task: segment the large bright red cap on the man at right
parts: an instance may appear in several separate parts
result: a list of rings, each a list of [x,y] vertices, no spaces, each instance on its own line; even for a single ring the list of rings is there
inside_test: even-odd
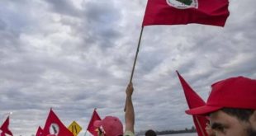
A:
[[[188,115],[208,115],[222,108],[256,110],[256,80],[230,77],[211,85],[205,106],[186,110]]]

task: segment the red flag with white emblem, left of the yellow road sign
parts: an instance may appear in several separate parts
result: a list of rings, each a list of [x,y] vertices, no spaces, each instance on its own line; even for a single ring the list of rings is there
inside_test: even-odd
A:
[[[73,134],[67,129],[64,124],[59,120],[55,112],[50,109],[50,113],[45,122],[45,128],[43,130],[43,135],[56,135],[56,136],[73,136]]]

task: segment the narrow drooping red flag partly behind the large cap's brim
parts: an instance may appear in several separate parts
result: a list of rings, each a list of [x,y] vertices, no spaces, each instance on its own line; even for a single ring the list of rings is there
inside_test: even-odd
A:
[[[183,86],[183,91],[185,93],[185,97],[186,97],[187,105],[189,109],[206,105],[206,102],[203,101],[201,97],[197,95],[197,92],[192,90],[192,87],[188,85],[188,83],[184,80],[184,78],[179,73],[178,73],[178,78]],[[196,115],[193,115],[192,117],[197,129],[198,136],[206,136],[207,135],[205,130],[206,123],[207,123],[206,117],[196,116]]]

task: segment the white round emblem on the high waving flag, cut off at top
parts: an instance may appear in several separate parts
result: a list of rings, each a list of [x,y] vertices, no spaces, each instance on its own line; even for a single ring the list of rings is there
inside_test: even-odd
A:
[[[178,9],[198,8],[197,0],[166,0],[169,6]]]

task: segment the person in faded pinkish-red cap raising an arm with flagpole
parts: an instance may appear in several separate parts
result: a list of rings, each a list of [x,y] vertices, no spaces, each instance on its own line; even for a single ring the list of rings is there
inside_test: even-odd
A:
[[[103,120],[94,121],[93,125],[98,128],[98,136],[134,136],[135,112],[131,101],[133,93],[132,83],[126,88],[126,131],[123,133],[121,120],[114,116],[106,116]]]

